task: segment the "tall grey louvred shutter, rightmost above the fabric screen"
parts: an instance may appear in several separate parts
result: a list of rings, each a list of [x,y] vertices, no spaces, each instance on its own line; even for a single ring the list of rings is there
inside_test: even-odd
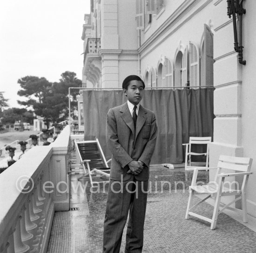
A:
[[[213,33],[204,24],[204,84],[213,86]]]

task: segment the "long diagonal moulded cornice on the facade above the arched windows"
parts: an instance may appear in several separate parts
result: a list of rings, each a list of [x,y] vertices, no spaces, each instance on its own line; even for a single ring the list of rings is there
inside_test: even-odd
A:
[[[175,24],[178,23],[184,16],[189,13],[189,11],[201,0],[188,0],[182,3],[181,6],[179,6],[176,11],[160,26],[159,29],[157,29],[138,49],[138,52],[141,54],[142,52],[145,52],[155,41],[163,36],[166,32],[168,32]],[[169,32],[162,40],[155,44],[149,52],[147,52],[145,55],[141,56],[141,58],[148,55],[148,53],[152,52],[158,45],[162,44],[164,40],[166,40],[169,36],[171,36],[175,31],[180,29],[185,23],[189,21],[189,19],[193,18],[196,13],[199,13],[205,6],[209,5],[210,2],[213,0],[205,0],[205,2],[198,7],[193,13],[189,15],[186,19],[184,19],[175,29],[173,29],[171,32]]]

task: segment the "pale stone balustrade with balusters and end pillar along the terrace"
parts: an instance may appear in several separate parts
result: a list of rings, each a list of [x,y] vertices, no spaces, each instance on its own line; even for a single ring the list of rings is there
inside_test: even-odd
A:
[[[0,174],[0,253],[45,253],[55,211],[69,210],[69,126]]]

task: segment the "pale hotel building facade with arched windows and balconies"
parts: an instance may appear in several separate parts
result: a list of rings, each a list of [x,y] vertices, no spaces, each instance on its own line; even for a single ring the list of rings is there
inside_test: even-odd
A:
[[[256,1],[243,7],[246,65],[234,50],[226,0],[92,0],[82,33],[82,82],[117,88],[138,74],[148,87],[214,85],[210,166],[221,154],[254,159],[247,204],[256,216]]]

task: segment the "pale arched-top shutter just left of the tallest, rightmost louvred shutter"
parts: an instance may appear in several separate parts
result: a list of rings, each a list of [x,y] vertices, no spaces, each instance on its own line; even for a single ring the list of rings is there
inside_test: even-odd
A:
[[[189,86],[199,86],[199,50],[189,42]]]

